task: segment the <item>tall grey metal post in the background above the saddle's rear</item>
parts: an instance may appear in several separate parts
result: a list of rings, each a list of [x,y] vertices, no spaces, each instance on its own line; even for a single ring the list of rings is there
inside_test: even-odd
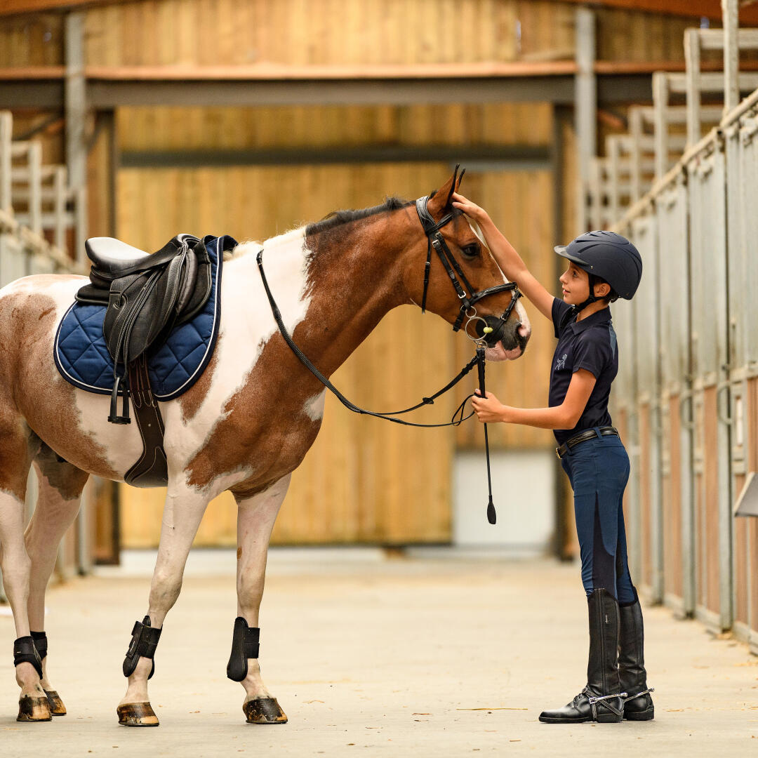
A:
[[[68,186],[74,193],[77,261],[84,262],[86,239],[87,152],[85,140],[86,80],[84,78],[84,13],[66,16],[66,163]]]

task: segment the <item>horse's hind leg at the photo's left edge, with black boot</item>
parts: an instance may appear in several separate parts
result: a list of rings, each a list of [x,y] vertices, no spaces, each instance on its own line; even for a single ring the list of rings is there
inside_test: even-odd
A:
[[[49,721],[50,707],[40,684],[42,662],[29,628],[27,603],[31,560],[23,541],[27,478],[38,440],[17,413],[0,406],[0,568],[16,625],[13,646],[21,688],[18,721]]]

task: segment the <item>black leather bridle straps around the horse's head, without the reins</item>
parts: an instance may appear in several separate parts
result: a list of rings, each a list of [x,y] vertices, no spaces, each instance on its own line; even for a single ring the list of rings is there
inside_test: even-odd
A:
[[[465,332],[470,337],[471,335],[468,334],[468,324],[475,319],[481,318],[481,316],[477,315],[476,309],[473,307],[475,302],[479,302],[482,298],[487,297],[488,295],[496,295],[500,292],[512,293],[511,302],[509,302],[503,315],[500,316],[500,321],[498,321],[494,327],[490,327],[489,325],[485,327],[486,331],[484,333],[484,340],[487,340],[489,334],[497,334],[498,330],[503,327],[503,324],[508,321],[511,311],[516,302],[518,302],[518,298],[521,297],[521,292],[518,290],[518,286],[515,282],[496,284],[495,287],[487,287],[486,290],[481,290],[481,292],[477,292],[474,287],[471,287],[471,284],[468,282],[468,279],[466,279],[466,275],[463,273],[463,269],[460,267],[459,262],[456,261],[455,256],[450,252],[450,249],[445,242],[445,238],[440,233],[440,229],[446,224],[449,224],[450,221],[453,221],[453,218],[456,216],[462,215],[462,211],[450,211],[449,214],[444,216],[440,221],[434,221],[434,218],[432,218],[427,207],[428,202],[428,195],[416,200],[418,219],[421,221],[421,226],[424,227],[424,233],[427,236],[427,260],[426,266],[424,267],[424,296],[421,298],[421,313],[426,311],[426,296],[427,290],[429,289],[429,269],[431,268],[431,249],[434,248],[437,251],[437,255],[440,256],[440,261],[442,261],[442,265],[445,267],[445,271],[447,271],[447,275],[450,277],[453,287],[456,289],[458,299],[461,301],[461,309],[458,313],[458,318],[456,318],[455,324],[453,324],[453,331],[458,331],[461,328],[463,319],[468,318]],[[460,277],[460,281],[458,277]],[[461,286],[461,282],[463,283],[463,286]],[[466,293],[466,290],[468,290],[468,294]],[[481,339],[475,341],[481,342]]]

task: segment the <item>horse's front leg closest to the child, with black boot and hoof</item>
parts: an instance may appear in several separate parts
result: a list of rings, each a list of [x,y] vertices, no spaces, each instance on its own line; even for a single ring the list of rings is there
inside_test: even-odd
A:
[[[237,500],[237,618],[227,676],[245,688],[243,713],[249,724],[284,724],[287,716],[269,693],[258,665],[258,611],[265,584],[268,540],[290,475],[268,490]]]

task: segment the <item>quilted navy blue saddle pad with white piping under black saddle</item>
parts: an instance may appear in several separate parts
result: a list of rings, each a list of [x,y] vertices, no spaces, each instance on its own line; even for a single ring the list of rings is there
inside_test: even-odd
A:
[[[173,400],[189,390],[208,365],[218,337],[221,316],[221,268],[224,250],[236,247],[230,236],[206,236],[211,258],[211,296],[198,315],[174,329],[148,356],[150,384],[155,398]],[[61,376],[80,390],[110,395],[113,359],[105,344],[102,323],[107,305],[74,302],[55,335],[55,365]]]

